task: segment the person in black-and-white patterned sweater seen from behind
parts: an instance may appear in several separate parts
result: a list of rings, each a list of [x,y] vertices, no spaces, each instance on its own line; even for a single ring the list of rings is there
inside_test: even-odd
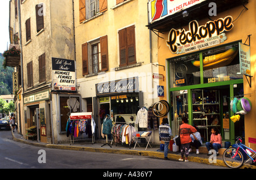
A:
[[[164,142],[164,159],[168,160],[168,146],[171,140],[172,130],[168,122],[168,118],[163,118],[162,124],[159,126],[159,137]]]

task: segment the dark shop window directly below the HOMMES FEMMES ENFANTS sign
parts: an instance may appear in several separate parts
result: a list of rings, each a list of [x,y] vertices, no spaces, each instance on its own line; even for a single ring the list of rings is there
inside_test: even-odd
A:
[[[60,96],[60,132],[65,132],[67,121],[71,113],[80,112],[80,97]]]

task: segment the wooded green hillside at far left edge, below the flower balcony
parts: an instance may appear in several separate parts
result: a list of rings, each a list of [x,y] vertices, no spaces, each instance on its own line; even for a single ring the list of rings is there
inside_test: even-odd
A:
[[[3,55],[0,53],[0,95],[10,95],[13,92],[13,71],[12,67],[3,68]]]

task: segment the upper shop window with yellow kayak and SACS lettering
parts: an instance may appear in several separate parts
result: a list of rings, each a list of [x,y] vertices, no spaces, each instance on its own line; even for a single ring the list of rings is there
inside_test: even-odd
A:
[[[238,44],[203,52],[204,83],[242,79]]]

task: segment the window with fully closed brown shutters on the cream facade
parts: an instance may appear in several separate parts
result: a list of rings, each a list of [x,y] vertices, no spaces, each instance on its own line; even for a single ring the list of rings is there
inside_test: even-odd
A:
[[[122,29],[119,35],[119,66],[128,66],[137,63],[135,48],[135,26]]]

